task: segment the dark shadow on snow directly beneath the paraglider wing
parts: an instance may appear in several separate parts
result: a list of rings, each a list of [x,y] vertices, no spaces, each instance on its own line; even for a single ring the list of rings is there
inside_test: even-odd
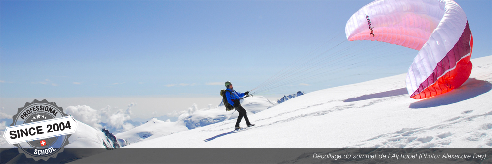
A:
[[[429,108],[441,105],[449,105],[456,102],[464,101],[470,98],[477,97],[484,93],[489,92],[492,89],[492,84],[488,81],[477,80],[475,78],[469,78],[460,87],[449,91],[445,94],[437,95],[435,97],[423,99],[414,103],[411,103],[409,108]]]

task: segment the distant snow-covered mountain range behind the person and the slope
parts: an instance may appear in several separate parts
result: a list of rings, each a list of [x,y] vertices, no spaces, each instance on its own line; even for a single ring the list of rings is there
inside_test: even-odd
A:
[[[302,91],[296,94],[286,95],[283,98],[277,100],[278,103],[285,102],[286,100],[304,95]],[[242,106],[246,109],[248,114],[254,114],[265,109],[275,106],[277,103],[268,100],[262,96],[253,96],[241,100]],[[169,135],[175,132],[186,131],[195,129],[197,127],[203,127],[210,124],[223,122],[230,119],[236,119],[238,112],[226,111],[223,104],[220,104],[216,108],[208,110],[198,110],[187,116],[183,116],[179,120],[169,119],[169,117],[152,118],[149,121],[126,120],[124,123],[130,123],[135,128],[124,131],[123,128],[114,128],[108,126],[104,122],[100,122],[102,129],[91,127],[83,122],[78,122],[76,133],[72,134],[69,138],[70,144],[67,148],[105,148],[108,150],[120,148],[130,145],[132,143],[141,142],[144,140]],[[164,121],[166,119],[169,121]],[[2,119],[2,121],[10,121],[9,119]],[[9,122],[9,124],[11,121]],[[3,133],[4,131],[2,131]],[[3,136],[2,136],[3,137]],[[2,148],[9,148],[15,146],[8,146],[8,143],[1,138]]]

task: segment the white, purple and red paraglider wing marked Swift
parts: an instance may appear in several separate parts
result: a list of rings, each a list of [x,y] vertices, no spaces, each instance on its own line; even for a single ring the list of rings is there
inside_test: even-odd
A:
[[[411,98],[430,98],[463,84],[471,73],[473,36],[452,0],[377,0],[345,26],[347,39],[376,40],[419,50],[408,69]]]

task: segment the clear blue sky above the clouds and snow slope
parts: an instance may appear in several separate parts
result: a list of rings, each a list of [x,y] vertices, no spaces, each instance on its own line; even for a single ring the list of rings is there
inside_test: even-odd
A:
[[[327,39],[346,39],[346,21],[369,2],[2,0],[0,96],[217,97],[225,81],[244,92]],[[491,55],[491,1],[457,3],[474,36],[472,58]],[[405,73],[417,54],[387,43],[346,44],[401,55],[264,94]]]

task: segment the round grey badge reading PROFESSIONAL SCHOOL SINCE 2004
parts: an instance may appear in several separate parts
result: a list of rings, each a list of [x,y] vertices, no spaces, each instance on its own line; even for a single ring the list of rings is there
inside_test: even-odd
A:
[[[26,102],[12,119],[12,124],[5,129],[5,138],[19,148],[19,153],[36,161],[46,161],[63,152],[77,125],[62,107],[46,99]]]

